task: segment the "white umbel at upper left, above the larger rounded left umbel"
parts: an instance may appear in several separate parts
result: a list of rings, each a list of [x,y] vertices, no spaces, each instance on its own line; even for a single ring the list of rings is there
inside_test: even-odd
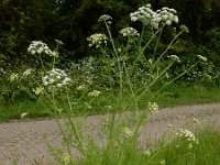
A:
[[[52,55],[52,51],[48,48],[47,44],[43,43],[42,41],[32,41],[28,52],[35,55],[35,54],[46,54],[46,55]]]

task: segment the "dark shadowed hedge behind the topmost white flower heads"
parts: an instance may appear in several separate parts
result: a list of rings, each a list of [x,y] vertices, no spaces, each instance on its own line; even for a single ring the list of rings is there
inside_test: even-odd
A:
[[[42,40],[54,45],[54,38],[65,43],[65,58],[76,59],[89,55],[87,36],[102,31],[97,22],[99,15],[113,16],[114,34],[128,25],[129,13],[141,4],[150,2],[154,9],[175,8],[180,16],[179,24],[186,24],[190,34],[185,36],[177,53],[208,53],[219,58],[219,0],[2,0],[0,2],[0,65],[7,62],[26,59],[26,47],[32,40]],[[166,37],[166,36],[165,36]],[[185,45],[185,47],[183,46]],[[197,47],[195,50],[195,47]]]

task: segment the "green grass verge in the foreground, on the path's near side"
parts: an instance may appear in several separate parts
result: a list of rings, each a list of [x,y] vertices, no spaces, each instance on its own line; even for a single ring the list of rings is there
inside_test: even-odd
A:
[[[195,131],[170,130],[170,139],[162,139],[154,146],[140,150],[135,142],[125,139],[108,154],[90,146],[85,158],[62,156],[62,165],[219,165],[220,132],[217,125],[197,128]],[[64,158],[65,157],[65,158]]]

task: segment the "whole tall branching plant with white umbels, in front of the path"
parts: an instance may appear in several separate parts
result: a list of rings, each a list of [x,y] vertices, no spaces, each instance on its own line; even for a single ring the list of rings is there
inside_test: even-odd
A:
[[[146,121],[147,114],[152,111],[156,111],[158,109],[158,106],[156,102],[148,102],[148,106],[146,106],[146,110],[140,111],[140,100],[143,98],[145,94],[147,94],[155,84],[163,78],[163,76],[168,72],[168,69],[173,66],[175,62],[180,62],[178,56],[170,55],[170,62],[167,63],[166,66],[161,65],[163,64],[162,59],[167,54],[167,51],[170,48],[170,46],[174,44],[176,38],[185,32],[182,30],[168,44],[168,46],[164,50],[164,52],[156,58],[156,52],[158,48],[161,35],[163,33],[165,25],[170,25],[173,22],[177,23],[178,18],[176,15],[176,11],[174,9],[163,8],[158,11],[153,11],[151,9],[150,4],[146,4],[145,7],[140,8],[136,12],[131,13],[131,21],[141,21],[143,24],[142,33],[141,35],[139,32],[133,28],[125,28],[121,30],[119,33],[122,34],[124,37],[127,37],[127,44],[122,47],[117,47],[114,40],[112,37],[111,31],[110,31],[110,23],[111,23],[111,16],[109,15],[102,15],[100,21],[105,22],[105,25],[107,28],[108,37],[105,34],[96,33],[92,34],[90,37],[88,37],[89,46],[96,46],[96,48],[99,48],[101,52],[103,58],[102,61],[111,59],[112,63],[109,63],[110,65],[110,74],[108,73],[105,75],[106,77],[110,76],[110,78],[107,79],[113,79],[117,82],[119,82],[119,88],[114,88],[113,84],[110,84],[111,91],[106,90],[109,95],[109,92],[112,92],[113,101],[119,105],[111,105],[112,100],[108,100],[110,103],[110,109],[108,109],[108,122],[107,122],[107,133],[105,134],[107,138],[107,144],[103,146],[103,148],[99,148],[98,144],[92,141],[85,142],[85,136],[82,134],[84,131],[80,125],[77,125],[77,121],[75,120],[75,109],[78,107],[74,107],[74,102],[72,102],[72,94],[69,94],[70,89],[68,88],[72,85],[74,78],[70,79],[68,77],[68,74],[65,73],[65,70],[55,68],[56,65],[56,58],[58,57],[58,46],[53,51],[50,52],[48,47],[45,46],[42,42],[36,42],[29,48],[29,52],[31,54],[38,54],[38,57],[41,58],[42,53],[50,53],[48,55],[52,56],[52,70],[46,72],[42,58],[42,68],[44,67],[44,77],[42,78],[43,86],[37,82],[40,87],[44,89],[44,94],[42,95],[50,101],[50,107],[53,108],[54,111],[52,111],[56,118],[56,122],[58,124],[58,128],[63,134],[66,150],[68,155],[72,155],[70,151],[72,147],[76,147],[81,156],[82,160],[88,158],[89,156],[94,156],[92,154],[97,154],[99,156],[103,156],[103,160],[107,161],[110,156],[116,156],[118,158],[118,163],[123,164],[123,156],[127,154],[125,152],[132,153],[132,150],[129,151],[130,146],[131,148],[134,148],[134,145],[138,145],[138,138],[140,133],[140,129],[142,124]],[[150,26],[152,29],[150,40],[144,41],[144,34],[146,28]],[[151,31],[151,30],[150,30]],[[134,37],[139,37],[138,40]],[[145,56],[146,48],[150,46],[150,44],[156,38],[156,44],[153,52],[153,58],[148,58]],[[108,47],[107,47],[107,41],[110,41],[110,46],[112,48],[112,54],[108,54]],[[42,48],[38,48],[36,45],[43,45]],[[57,44],[61,44],[57,42]],[[102,47],[105,45],[105,47]],[[122,44],[123,45],[123,44]],[[46,51],[47,50],[47,51]],[[121,50],[121,51],[118,51]],[[133,55],[133,56],[132,56]],[[140,59],[142,57],[142,59]],[[206,57],[202,57],[201,55],[198,55],[198,58],[201,61],[207,61]],[[116,59],[116,63],[114,63]],[[101,61],[101,62],[102,62]],[[112,62],[111,61],[111,62]],[[108,63],[108,62],[107,62]],[[182,77],[184,74],[186,74],[188,70],[190,70],[194,66],[196,66],[199,62],[195,63],[191,67],[187,68],[183,74],[179,74],[177,77],[173,78],[170,81],[168,81],[166,85],[161,87],[155,94],[158,94],[161,90],[163,90],[166,86]],[[105,63],[106,64],[106,63]],[[108,66],[109,66],[108,65]],[[162,67],[161,67],[162,66]],[[106,67],[106,65],[105,65]],[[113,68],[117,67],[117,68]],[[138,68],[139,67],[139,68]],[[91,67],[92,68],[92,67]],[[89,65],[90,69],[90,65]],[[106,69],[106,68],[105,68]],[[109,72],[109,67],[107,68]],[[140,73],[144,74],[135,75],[136,70],[141,70]],[[117,70],[117,72],[116,72]],[[92,72],[88,72],[89,74]],[[139,81],[139,78],[141,77],[142,81]],[[106,79],[105,79],[106,80]],[[136,82],[138,81],[138,82]],[[107,80],[105,81],[107,82]],[[81,113],[84,113],[86,110],[91,109],[94,105],[96,105],[101,110],[107,110],[106,107],[102,106],[103,98],[98,98],[99,95],[102,95],[102,90],[99,91],[99,88],[90,89],[85,87],[86,84],[79,84],[77,82],[77,86],[72,86],[74,89],[76,89],[76,96],[74,96],[74,101],[85,103],[84,107],[80,109]],[[89,84],[90,85],[90,84]],[[108,84],[109,85],[109,84]],[[59,105],[57,105],[57,95],[62,92],[62,97],[66,97],[64,99],[67,99],[67,106],[69,111],[67,111],[66,120],[65,122],[69,124],[70,129],[70,139],[69,134],[66,134],[62,123],[61,123],[61,117],[63,116],[63,110],[59,109]],[[74,91],[75,92],[75,91]],[[116,94],[117,92],[117,94]],[[125,97],[125,94],[129,94],[128,98]],[[117,95],[117,97],[116,97]],[[105,96],[103,96],[105,97]],[[84,99],[86,100],[84,102]],[[101,101],[100,101],[101,100]],[[153,100],[150,99],[148,101]],[[106,100],[105,100],[106,105]],[[81,105],[79,105],[81,106]],[[108,105],[109,106],[109,105]],[[116,107],[113,107],[116,106]],[[112,108],[113,107],[113,108]],[[123,118],[124,110],[132,109],[132,120],[130,120],[130,117],[128,119]],[[119,113],[117,113],[119,110]],[[120,113],[122,111],[122,113]],[[66,114],[66,112],[64,112]],[[127,118],[127,116],[125,116]],[[127,121],[128,120],[128,121]],[[125,125],[128,124],[128,125]],[[124,127],[125,125],[125,127]],[[106,125],[105,125],[106,127]],[[124,129],[123,129],[124,128]],[[131,128],[131,129],[130,129]],[[121,136],[121,133],[125,132],[125,136]],[[72,141],[75,140],[76,144]],[[106,142],[106,139],[105,139]],[[95,144],[96,143],[96,144]],[[87,145],[91,144],[95,146],[92,148],[94,151],[89,151],[91,146]],[[128,145],[130,145],[128,147]],[[87,148],[88,147],[88,148]],[[124,151],[125,150],[125,151]],[[90,153],[91,152],[91,153]],[[116,152],[116,153],[114,153]],[[103,154],[103,155],[102,155]],[[133,154],[133,153],[132,153]],[[96,156],[97,156],[96,155]],[[106,157],[105,157],[106,156]],[[108,157],[108,158],[107,158]],[[111,157],[110,157],[111,158]]]

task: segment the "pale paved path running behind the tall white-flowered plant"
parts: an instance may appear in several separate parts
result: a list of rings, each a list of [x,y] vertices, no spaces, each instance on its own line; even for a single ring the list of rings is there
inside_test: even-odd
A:
[[[102,118],[103,116],[88,117],[85,120],[86,132],[96,138],[101,129]],[[152,145],[170,125],[175,129],[187,123],[191,125],[194,118],[200,121],[200,125],[219,125],[220,103],[161,109],[142,128],[140,142],[144,146]],[[48,144],[62,147],[62,135],[55,120],[14,120],[0,123],[0,165],[54,165]]]

